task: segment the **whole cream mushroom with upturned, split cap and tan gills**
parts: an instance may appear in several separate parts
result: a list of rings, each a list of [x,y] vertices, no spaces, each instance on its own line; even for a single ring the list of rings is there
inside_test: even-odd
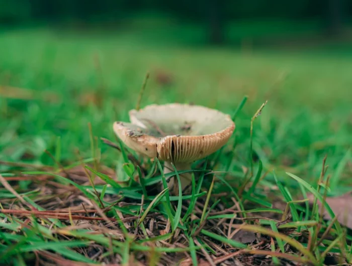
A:
[[[191,170],[191,163],[205,158],[224,146],[235,124],[228,114],[200,105],[169,103],[148,105],[129,112],[130,123],[115,122],[117,137],[130,149],[164,161],[164,173]],[[180,175],[182,189],[191,183],[191,175]],[[175,184],[175,186],[173,186]],[[170,180],[173,193],[177,179]]]

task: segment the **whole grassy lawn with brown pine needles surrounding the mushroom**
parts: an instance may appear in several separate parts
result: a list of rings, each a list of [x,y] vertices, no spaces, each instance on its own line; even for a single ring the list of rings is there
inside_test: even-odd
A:
[[[131,38],[0,33],[0,262],[352,263],[352,210],[325,203],[352,190],[351,53]],[[155,191],[178,173],[114,137],[147,72],[142,106],[193,102],[236,123],[193,164],[189,194]]]

